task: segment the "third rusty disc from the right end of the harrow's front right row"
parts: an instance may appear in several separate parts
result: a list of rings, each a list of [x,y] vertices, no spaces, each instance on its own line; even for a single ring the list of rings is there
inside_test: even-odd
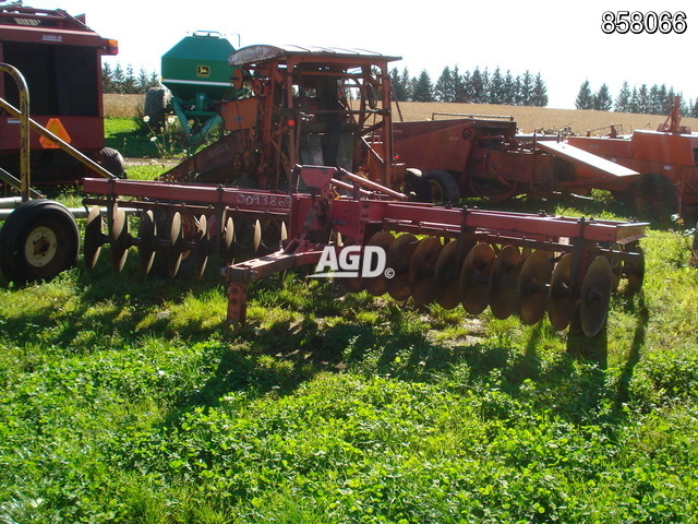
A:
[[[526,258],[517,287],[519,318],[524,324],[533,325],[545,315],[552,273],[553,258],[550,252],[538,250]]]

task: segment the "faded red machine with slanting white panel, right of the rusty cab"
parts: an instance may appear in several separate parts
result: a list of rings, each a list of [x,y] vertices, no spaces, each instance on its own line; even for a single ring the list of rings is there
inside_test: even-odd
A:
[[[422,171],[423,201],[585,194],[637,175],[570,144],[522,140],[510,117],[396,122],[394,135],[401,162]]]

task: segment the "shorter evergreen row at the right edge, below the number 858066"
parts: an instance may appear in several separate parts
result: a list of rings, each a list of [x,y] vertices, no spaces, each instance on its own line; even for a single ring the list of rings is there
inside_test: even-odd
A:
[[[577,94],[575,107],[577,109],[598,109],[600,111],[637,112],[645,115],[669,115],[674,106],[674,98],[681,96],[674,87],[654,84],[648,87],[642,84],[630,88],[628,82],[623,82],[617,96],[613,98],[606,84],[601,84],[595,93],[591,84],[585,80]],[[698,99],[686,100],[681,96],[681,114],[685,117],[698,117]]]

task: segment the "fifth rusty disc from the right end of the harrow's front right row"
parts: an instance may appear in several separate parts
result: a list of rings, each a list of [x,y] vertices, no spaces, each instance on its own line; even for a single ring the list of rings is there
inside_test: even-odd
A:
[[[496,254],[489,243],[478,243],[470,250],[460,271],[460,300],[471,314],[479,314],[488,308],[490,272]]]

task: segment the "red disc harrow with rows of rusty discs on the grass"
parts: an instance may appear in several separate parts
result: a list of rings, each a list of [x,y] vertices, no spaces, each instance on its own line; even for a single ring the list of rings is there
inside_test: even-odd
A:
[[[327,247],[385,251],[389,277],[386,272],[340,278],[351,291],[412,297],[420,306],[437,302],[447,309],[462,305],[472,314],[490,307],[495,318],[518,314],[525,324],[547,313],[558,331],[578,314],[587,336],[603,329],[622,277],[630,290],[641,286],[643,223],[398,202],[386,200],[393,199],[390,191],[375,183],[338,182],[344,174],[335,168],[298,166],[297,174],[308,192],[85,179],[92,194],[85,204],[93,206],[85,260],[94,265],[100,246],[110,243],[120,270],[135,246],[144,272],[163,252],[174,276],[190,254],[198,277],[208,257],[220,254],[231,326],[245,322],[252,281],[315,265]],[[107,209],[107,234],[94,224],[101,221],[94,206]],[[136,237],[123,218],[127,207],[142,216]],[[265,242],[262,224],[272,240]]]

